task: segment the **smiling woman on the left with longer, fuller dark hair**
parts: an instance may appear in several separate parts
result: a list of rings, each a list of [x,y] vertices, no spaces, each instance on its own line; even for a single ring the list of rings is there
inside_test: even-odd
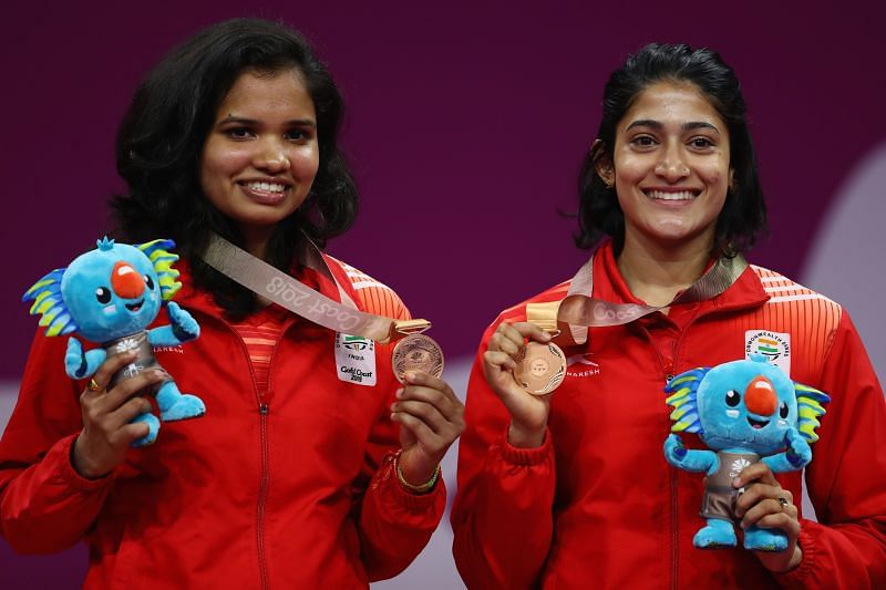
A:
[[[409,319],[388,287],[320,250],[357,214],[341,117],[306,41],[264,20],[208,27],[147,75],[120,127],[128,190],[113,206],[127,241],[177,245],[175,300],[200,334],[154,354],[206,414],[133,448],[150,434],[137,394],[164,374],[112,384],[121,354],[74,382],[65,339],[38,333],[0,442],[0,527],[16,550],[85,540],[87,588],[359,588],[421,551],[463,429],[452,390],[423,371],[401,385],[391,345],[301,318],[204,260],[217,236],[301,292]]]

